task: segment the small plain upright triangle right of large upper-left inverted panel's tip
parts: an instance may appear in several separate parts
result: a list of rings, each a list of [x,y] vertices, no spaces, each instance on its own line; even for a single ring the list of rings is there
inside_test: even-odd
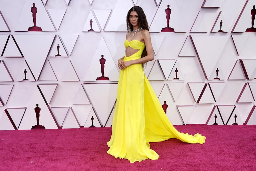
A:
[[[44,65],[43,71],[39,76],[39,81],[58,81],[49,60]]]

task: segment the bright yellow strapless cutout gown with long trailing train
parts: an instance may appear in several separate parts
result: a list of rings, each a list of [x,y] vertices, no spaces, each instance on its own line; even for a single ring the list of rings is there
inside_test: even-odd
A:
[[[145,44],[125,40],[125,47],[139,51],[124,61],[141,58]],[[205,142],[205,136],[180,133],[172,126],[158,101],[141,64],[131,65],[120,71],[116,109],[113,117],[112,135],[107,143],[108,154],[115,158],[128,159],[131,163],[145,159],[158,159],[148,142],[160,142],[177,138],[186,143]]]

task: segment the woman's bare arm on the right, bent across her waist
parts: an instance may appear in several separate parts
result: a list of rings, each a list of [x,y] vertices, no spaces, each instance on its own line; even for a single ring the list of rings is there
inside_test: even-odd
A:
[[[148,30],[142,31],[142,39],[144,40],[148,55],[143,58],[140,58],[140,59],[123,61],[123,62],[120,61],[121,62],[120,63],[121,67],[119,67],[120,69],[124,69],[133,64],[142,64],[142,63],[145,63],[145,62],[148,62],[148,61],[151,61],[154,59],[153,47],[152,47],[151,38],[150,38],[150,34],[149,34]],[[119,60],[118,60],[118,65],[119,65]]]

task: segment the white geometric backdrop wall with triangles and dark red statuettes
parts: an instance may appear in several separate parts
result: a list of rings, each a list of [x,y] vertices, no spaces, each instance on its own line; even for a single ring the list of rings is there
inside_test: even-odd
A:
[[[111,126],[134,5],[172,124],[256,124],[254,0],[1,0],[0,130]]]

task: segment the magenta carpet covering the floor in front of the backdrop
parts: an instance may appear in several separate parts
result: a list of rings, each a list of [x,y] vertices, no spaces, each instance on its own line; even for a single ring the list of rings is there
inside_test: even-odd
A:
[[[130,163],[107,153],[111,128],[0,131],[0,170],[256,170],[256,125],[179,125],[205,144],[150,143],[160,156]]]

